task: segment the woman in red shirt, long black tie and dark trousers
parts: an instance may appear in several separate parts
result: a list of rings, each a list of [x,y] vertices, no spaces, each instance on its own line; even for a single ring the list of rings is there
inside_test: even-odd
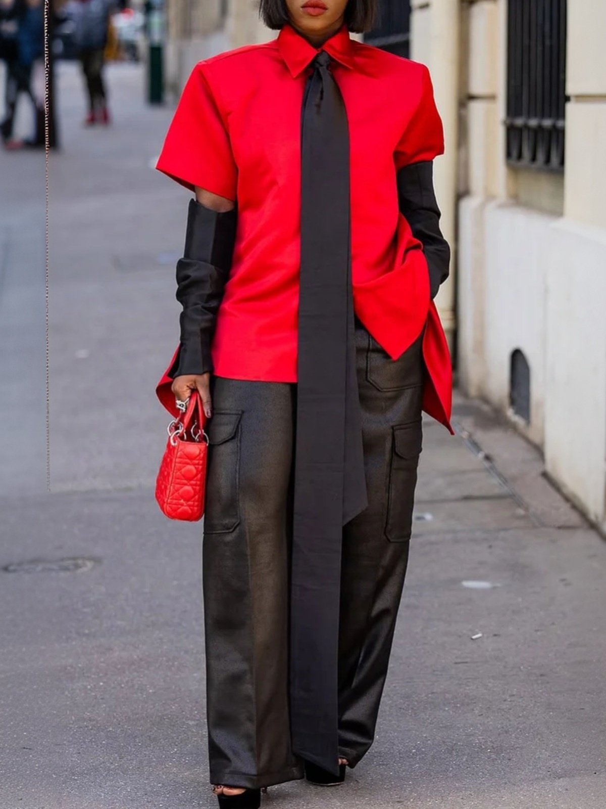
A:
[[[450,429],[427,69],[351,39],[372,0],[262,0],[275,40],[200,61],[157,167],[195,191],[158,396],[208,421],[210,776],[219,802],[343,781],[372,744],[421,411]]]

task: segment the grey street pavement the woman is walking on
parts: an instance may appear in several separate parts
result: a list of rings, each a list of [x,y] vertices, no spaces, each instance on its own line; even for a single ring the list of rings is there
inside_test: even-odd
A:
[[[109,74],[116,124],[88,131],[75,67],[60,72],[53,493],[0,478],[0,809],[216,805],[200,526],[170,523],[153,498],[167,421],[154,385],[177,337],[187,193],[150,168],[170,109],[145,108],[137,66]],[[0,168],[23,165],[2,156]],[[39,202],[15,208],[23,234]],[[9,403],[11,362],[0,355]],[[457,397],[454,421],[455,438],[424,427],[376,743],[346,786],[279,786],[267,807],[606,806],[606,545],[490,409]]]

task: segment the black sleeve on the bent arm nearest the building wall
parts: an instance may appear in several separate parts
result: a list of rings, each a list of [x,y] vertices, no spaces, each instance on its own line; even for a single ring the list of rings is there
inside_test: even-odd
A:
[[[433,187],[433,162],[423,160],[398,172],[398,202],[415,239],[423,244],[429,267],[431,299],[448,278],[450,248],[440,231],[440,208]]]

